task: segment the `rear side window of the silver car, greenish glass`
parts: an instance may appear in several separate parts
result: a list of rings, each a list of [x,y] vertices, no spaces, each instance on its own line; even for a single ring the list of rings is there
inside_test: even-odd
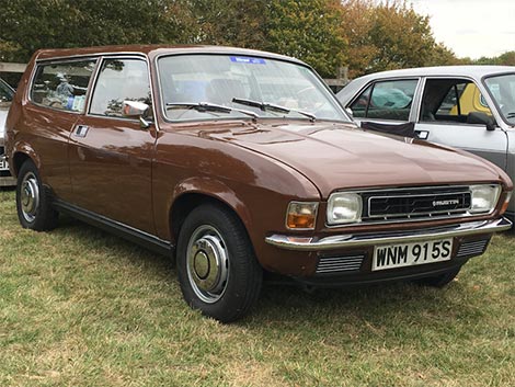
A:
[[[350,106],[355,117],[408,121],[417,80],[370,84]]]

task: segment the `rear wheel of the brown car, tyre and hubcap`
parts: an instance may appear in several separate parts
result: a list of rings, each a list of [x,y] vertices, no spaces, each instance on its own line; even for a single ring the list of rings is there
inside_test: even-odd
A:
[[[52,195],[43,186],[32,160],[26,160],[18,173],[16,210],[24,228],[45,231],[57,226],[58,213],[52,208]]]

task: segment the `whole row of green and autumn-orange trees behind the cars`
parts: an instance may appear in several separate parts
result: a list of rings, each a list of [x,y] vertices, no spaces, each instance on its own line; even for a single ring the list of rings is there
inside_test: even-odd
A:
[[[458,59],[407,0],[3,0],[0,61],[38,48],[211,44],[290,55],[323,77],[394,68],[514,65],[514,52]]]

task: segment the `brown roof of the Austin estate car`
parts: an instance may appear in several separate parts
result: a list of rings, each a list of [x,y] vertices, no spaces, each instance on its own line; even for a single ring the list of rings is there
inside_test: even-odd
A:
[[[237,48],[228,46],[206,46],[206,45],[117,45],[98,46],[82,48],[50,48],[36,52],[36,60],[50,60],[58,58],[69,58],[77,56],[95,56],[108,54],[145,55],[150,58],[167,54],[232,54],[266,57],[271,59],[287,60],[307,66],[301,60],[258,49]]]

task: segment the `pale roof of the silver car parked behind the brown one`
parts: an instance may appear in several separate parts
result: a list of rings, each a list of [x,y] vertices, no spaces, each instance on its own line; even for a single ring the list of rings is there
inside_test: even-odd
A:
[[[484,76],[496,73],[515,72],[515,66],[437,66],[437,67],[417,67],[401,70],[389,70],[374,72],[351,81],[339,93],[337,98],[346,104],[354,94],[368,83],[370,80],[404,78],[404,77],[468,77],[480,80]]]

